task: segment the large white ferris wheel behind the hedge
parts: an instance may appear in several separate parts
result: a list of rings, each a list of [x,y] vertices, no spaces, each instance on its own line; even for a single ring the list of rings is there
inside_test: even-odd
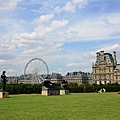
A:
[[[31,59],[24,69],[24,80],[30,83],[41,83],[48,75],[48,66],[46,62],[40,58]]]

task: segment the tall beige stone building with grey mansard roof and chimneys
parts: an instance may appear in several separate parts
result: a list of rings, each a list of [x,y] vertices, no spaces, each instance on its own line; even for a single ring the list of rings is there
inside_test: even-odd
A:
[[[117,64],[116,52],[100,51],[96,53],[96,62],[92,64],[93,82],[96,84],[119,83],[120,64]]]

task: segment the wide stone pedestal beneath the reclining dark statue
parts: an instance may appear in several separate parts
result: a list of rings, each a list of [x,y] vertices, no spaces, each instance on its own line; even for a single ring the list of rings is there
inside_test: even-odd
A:
[[[60,90],[54,90],[54,89],[42,90],[42,95],[44,96],[60,95]]]

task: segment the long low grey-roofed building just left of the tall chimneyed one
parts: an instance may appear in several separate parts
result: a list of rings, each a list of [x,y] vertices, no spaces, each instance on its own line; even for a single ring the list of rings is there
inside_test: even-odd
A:
[[[64,78],[68,83],[87,84],[92,83],[92,74],[86,72],[68,72]]]

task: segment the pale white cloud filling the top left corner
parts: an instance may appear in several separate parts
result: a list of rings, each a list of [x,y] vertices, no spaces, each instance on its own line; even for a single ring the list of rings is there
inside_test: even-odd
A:
[[[0,0],[0,11],[12,11],[20,1],[22,0]]]

